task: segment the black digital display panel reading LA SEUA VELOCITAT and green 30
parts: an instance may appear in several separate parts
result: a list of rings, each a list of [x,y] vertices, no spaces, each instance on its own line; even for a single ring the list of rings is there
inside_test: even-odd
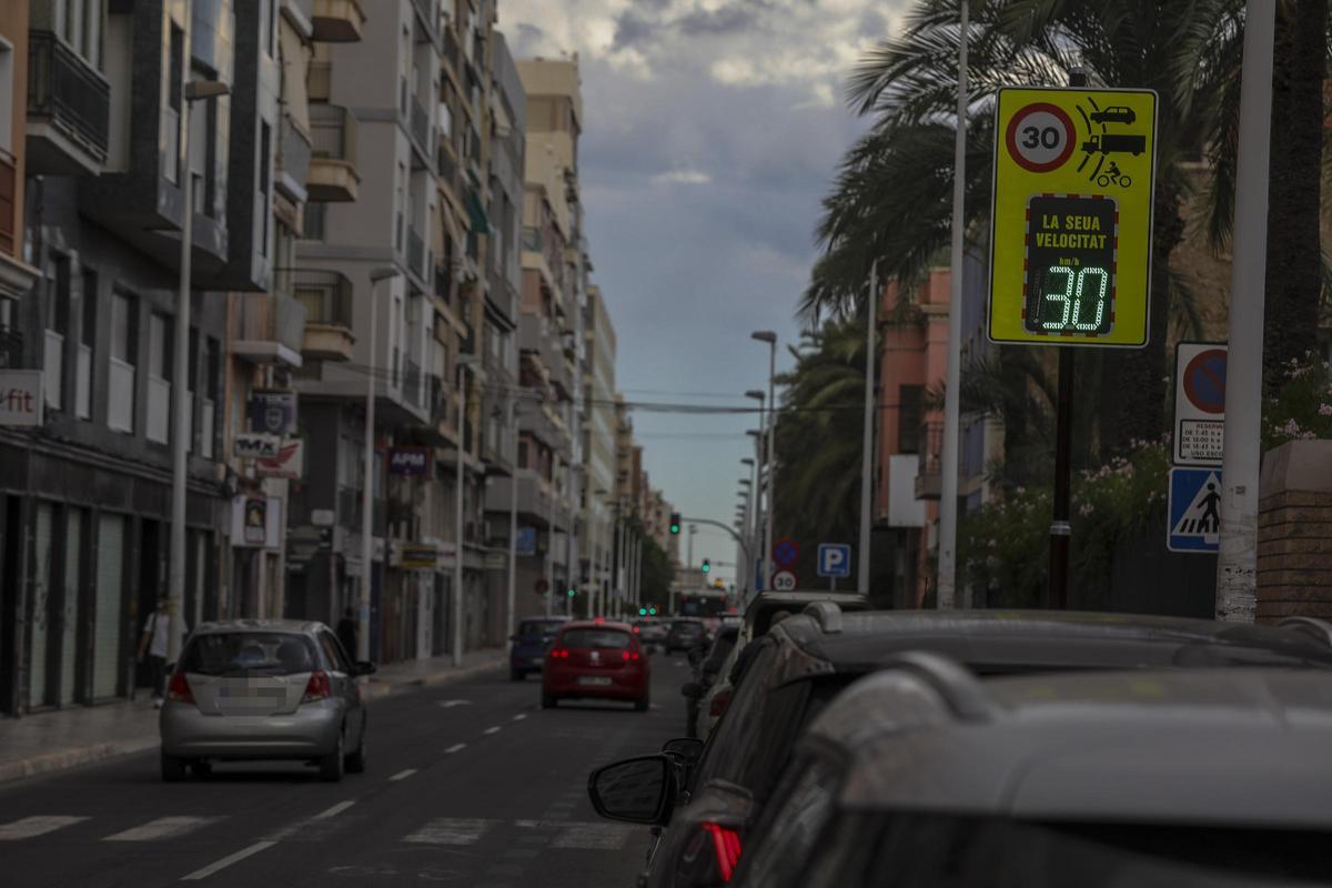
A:
[[[1027,204],[1023,326],[1051,337],[1099,337],[1115,326],[1114,198],[1039,194]]]

